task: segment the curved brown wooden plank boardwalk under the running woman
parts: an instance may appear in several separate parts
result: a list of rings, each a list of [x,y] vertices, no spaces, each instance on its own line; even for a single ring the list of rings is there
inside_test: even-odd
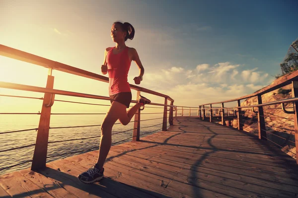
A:
[[[43,171],[0,176],[0,198],[298,198],[296,161],[257,137],[174,117],[174,126],[111,148],[105,178],[76,176],[97,151],[53,161]]]

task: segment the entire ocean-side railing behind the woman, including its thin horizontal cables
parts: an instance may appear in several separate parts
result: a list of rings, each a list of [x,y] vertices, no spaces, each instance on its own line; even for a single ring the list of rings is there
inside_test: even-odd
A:
[[[37,132],[35,144],[28,144],[28,145],[21,145],[19,147],[13,147],[13,148],[4,148],[0,150],[0,153],[9,152],[9,151],[18,151],[20,149],[34,149],[33,157],[30,160],[20,160],[19,163],[15,163],[12,165],[7,165],[5,167],[0,167],[0,171],[7,170],[14,168],[16,166],[24,165],[26,163],[31,163],[31,170],[38,170],[41,168],[44,168],[47,162],[47,159],[53,160],[60,156],[67,156],[69,154],[74,153],[82,153],[83,151],[92,150],[92,149],[98,149],[99,145],[97,147],[92,148],[86,148],[86,149],[79,149],[79,150],[69,150],[70,152],[66,153],[57,153],[53,151],[52,154],[48,155],[48,146],[50,149],[51,145],[57,145],[57,144],[69,144],[75,141],[92,141],[93,139],[100,138],[100,135],[93,135],[93,136],[85,136],[85,137],[72,137],[70,139],[58,139],[49,141],[49,132],[51,130],[68,130],[68,129],[74,129],[74,128],[94,128],[101,126],[101,124],[77,124],[77,125],[67,125],[65,126],[50,126],[50,118],[51,116],[91,116],[91,115],[105,115],[106,113],[103,112],[51,112],[51,107],[55,105],[56,102],[67,102],[67,103],[74,103],[74,104],[84,104],[84,105],[96,105],[96,106],[110,106],[109,104],[104,104],[101,102],[85,102],[85,101],[76,101],[74,100],[62,100],[62,99],[55,99],[55,96],[69,96],[72,98],[84,98],[84,99],[96,99],[98,101],[100,100],[110,100],[109,97],[105,96],[98,96],[98,95],[91,95],[91,94],[85,94],[85,93],[78,93],[78,92],[70,92],[65,90],[58,90],[53,89],[54,87],[54,76],[52,75],[53,70],[58,70],[61,72],[66,72],[70,74],[74,74],[77,76],[81,76],[84,78],[90,78],[93,80],[98,80],[102,82],[108,83],[108,78],[91,73],[82,69],[78,69],[63,63],[59,63],[56,61],[52,61],[40,56],[36,56],[24,51],[20,51],[17,49],[12,49],[3,45],[0,45],[0,55],[10,57],[16,60],[25,61],[28,63],[32,63],[35,65],[43,66],[48,68],[48,76],[47,76],[47,85],[46,87],[37,87],[37,86],[29,86],[29,85],[23,85],[23,84],[16,84],[16,83],[9,83],[9,82],[0,82],[0,88],[9,89],[9,90],[20,90],[20,91],[26,91],[31,93],[41,93],[44,94],[44,97],[28,97],[28,96],[17,96],[17,95],[4,95],[1,94],[0,97],[9,97],[9,98],[20,98],[20,99],[36,99],[36,100],[42,100],[42,106],[41,111],[38,112],[0,112],[1,116],[14,116],[14,115],[21,115],[21,116],[34,116],[38,115],[40,116],[38,127],[36,128],[25,128],[20,130],[10,130],[10,131],[1,131],[0,135],[12,135],[16,134],[17,136],[24,136],[27,133],[31,132]],[[148,134],[154,133],[156,131],[166,131],[168,124],[173,124],[173,112],[176,110],[176,106],[174,106],[174,100],[171,99],[169,96],[148,90],[146,88],[142,88],[136,85],[130,85],[132,90],[137,91],[137,99],[140,97],[141,92],[155,95],[158,97],[162,97],[164,99],[164,103],[157,103],[152,101],[150,104],[146,105],[146,109],[156,109],[156,111],[151,112],[145,112],[143,113],[144,107],[137,110],[135,117],[130,122],[133,124],[133,127],[130,129],[123,129],[121,131],[112,132],[113,136],[119,136],[114,142],[113,145],[121,144],[127,141],[139,141],[140,137],[144,137]],[[169,101],[169,102],[168,102]],[[137,103],[138,100],[132,100],[132,103]],[[132,106],[132,105],[131,105]],[[163,112],[157,112],[158,109],[162,109]],[[161,116],[163,114],[163,116]],[[141,115],[148,115],[148,116],[155,116],[157,118],[150,118],[148,119],[145,117],[141,119]],[[157,116],[160,115],[160,116]],[[143,117],[143,116],[142,116]],[[161,123],[158,121],[161,120]],[[158,124],[154,123],[152,124],[150,121],[158,121]],[[141,126],[141,123],[143,126]],[[146,124],[147,123],[147,124]],[[121,123],[115,123],[115,125],[119,125]],[[158,128],[156,130],[156,128]],[[154,129],[154,130],[149,130]],[[89,130],[89,129],[88,129]],[[99,131],[99,130],[98,130]],[[130,136],[129,133],[132,133]],[[62,145],[63,146],[63,145]]]

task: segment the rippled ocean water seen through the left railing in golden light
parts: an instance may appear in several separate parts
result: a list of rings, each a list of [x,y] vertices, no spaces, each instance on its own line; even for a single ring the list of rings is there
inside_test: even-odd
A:
[[[162,112],[162,109],[159,110]],[[162,116],[163,114],[141,114],[141,120],[155,119],[141,122],[141,138],[152,133],[161,131],[162,128]],[[38,128],[40,115],[7,115],[0,114],[0,133],[34,129]],[[51,115],[50,127],[70,127],[70,126],[87,126],[87,125],[99,125],[101,124],[104,115]],[[168,120],[168,119],[167,119]],[[132,119],[134,121],[134,118]],[[116,123],[119,123],[118,121]],[[112,144],[122,144],[132,140],[134,123],[129,123],[126,126],[116,124],[112,131]],[[159,125],[158,125],[159,124]],[[157,126],[152,126],[157,125]],[[152,127],[149,127],[152,126]],[[169,127],[169,123],[167,123]],[[143,128],[142,127],[148,127]],[[122,131],[127,131],[119,133]],[[117,134],[116,134],[117,133]],[[18,163],[22,163],[28,160],[32,160],[34,146],[27,148],[19,148],[14,150],[8,150],[11,148],[24,147],[35,144],[37,131],[24,131],[8,134],[0,134],[0,169],[12,166]],[[62,128],[62,129],[50,129],[49,142],[65,141],[80,138],[91,138],[84,140],[74,140],[68,142],[49,143],[47,162],[57,160],[60,158],[73,156],[79,153],[88,152],[86,150],[93,148],[96,150],[99,148],[100,142],[100,126],[93,127],[78,127],[78,128]],[[122,141],[124,140],[124,141]],[[71,153],[70,153],[71,152]],[[69,154],[68,154],[69,153]],[[59,156],[55,156],[59,155]],[[54,157],[51,157],[54,156]],[[0,171],[1,174],[8,172],[21,170],[31,166],[31,162],[24,163],[15,167],[7,168]]]

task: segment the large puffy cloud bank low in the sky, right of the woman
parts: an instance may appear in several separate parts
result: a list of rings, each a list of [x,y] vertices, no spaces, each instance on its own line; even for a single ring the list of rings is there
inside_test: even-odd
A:
[[[177,105],[236,99],[268,85],[269,75],[258,68],[241,70],[239,64],[199,64],[193,69],[169,67],[145,74],[143,86],[175,99]],[[152,83],[153,82],[153,83]],[[178,103],[179,102],[179,103]]]

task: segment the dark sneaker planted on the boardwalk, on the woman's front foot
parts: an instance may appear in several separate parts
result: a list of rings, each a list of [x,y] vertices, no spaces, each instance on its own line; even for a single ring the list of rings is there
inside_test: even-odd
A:
[[[103,178],[104,168],[99,170],[95,167],[95,164],[89,170],[79,174],[77,176],[78,180],[84,184],[91,184],[93,182],[97,182]]]

